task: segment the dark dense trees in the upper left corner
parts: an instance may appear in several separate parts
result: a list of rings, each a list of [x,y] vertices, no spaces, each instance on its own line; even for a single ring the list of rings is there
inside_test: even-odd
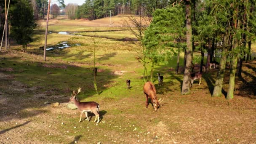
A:
[[[1,17],[0,32],[5,35],[5,48],[10,47],[10,40],[16,40],[22,45],[22,51],[26,51],[27,44],[32,41],[32,32],[37,26],[34,19],[33,2],[28,0],[1,1],[0,6],[6,15]],[[5,20],[6,18],[6,20]],[[3,38],[0,51],[2,50]]]

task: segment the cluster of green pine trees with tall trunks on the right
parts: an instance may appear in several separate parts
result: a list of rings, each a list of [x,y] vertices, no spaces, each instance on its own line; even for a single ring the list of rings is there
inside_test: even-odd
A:
[[[226,63],[230,61],[226,98],[232,99],[235,75],[241,76],[243,60],[248,60],[251,56],[251,41],[256,33],[255,6],[256,2],[253,0],[181,0],[178,3],[173,1],[167,8],[154,11],[152,22],[146,31],[141,29],[144,16],[140,16],[140,19],[131,17],[131,21],[135,21],[133,24],[137,25],[138,32],[144,32],[144,37],[140,38],[142,49],[139,60],[144,66],[152,64],[152,79],[155,64],[167,61],[176,53],[179,60],[179,51],[183,50],[185,69],[181,94],[185,95],[190,93],[194,51],[201,52],[202,72],[204,53],[208,53],[206,61],[208,71],[209,62],[216,60],[214,53],[219,49],[221,51],[219,72],[212,96],[222,95]],[[136,35],[139,35],[138,32]],[[144,72],[147,75],[146,67]]]

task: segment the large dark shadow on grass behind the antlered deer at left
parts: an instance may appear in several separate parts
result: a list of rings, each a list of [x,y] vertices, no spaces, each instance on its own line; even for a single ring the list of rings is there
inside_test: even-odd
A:
[[[5,101],[0,103],[0,121],[16,118],[15,116],[6,115],[3,113],[4,111],[17,112],[19,110],[20,112],[16,116],[22,118],[47,113],[48,111],[38,110],[37,108],[47,106],[47,104],[44,104],[46,101],[51,103],[68,102],[72,89],[78,87],[82,88],[78,99],[82,100],[96,94],[91,69],[89,68],[72,64],[24,60],[24,57],[21,60],[19,55],[10,58],[5,54],[1,55],[1,57],[6,57],[2,60],[5,64],[0,66],[4,69],[11,68],[13,70],[3,72],[5,76],[0,74],[0,90],[1,93],[4,93],[0,97]],[[118,75],[109,75],[111,73],[110,69],[104,69],[100,73],[97,76],[97,86],[98,90],[102,92],[109,89],[104,85],[116,79]],[[8,105],[10,103],[12,105]],[[30,108],[32,108],[32,111],[26,110]],[[104,112],[102,113],[104,114]],[[15,113],[11,115],[15,115]]]

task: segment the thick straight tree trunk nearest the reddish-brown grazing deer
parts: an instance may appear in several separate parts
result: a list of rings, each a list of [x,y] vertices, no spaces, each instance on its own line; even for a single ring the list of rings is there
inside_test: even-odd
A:
[[[190,93],[190,75],[192,70],[192,25],[191,25],[191,4],[186,2],[186,37],[187,37],[187,60],[183,77],[181,94],[186,95]]]

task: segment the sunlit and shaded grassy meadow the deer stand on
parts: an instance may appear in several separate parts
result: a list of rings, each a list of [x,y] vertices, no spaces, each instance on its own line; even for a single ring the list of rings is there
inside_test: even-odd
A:
[[[112,18],[122,24],[124,17]],[[136,60],[139,42],[125,27],[96,27],[109,19],[50,20],[48,45],[67,42],[68,48],[47,51],[43,61],[45,21],[39,21],[35,41],[28,53],[21,45],[0,54],[0,139],[3,143],[255,143],[256,142],[256,61],[243,65],[243,79],[237,78],[235,97],[211,98],[216,72],[203,74],[191,93],[180,94],[183,75],[175,75],[176,56],[155,67],[153,83],[157,97],[165,97],[154,111],[145,107],[143,66]],[[75,32],[61,35],[58,32]],[[93,85],[94,42],[98,91]],[[79,45],[76,45],[79,44]],[[255,56],[256,45],[253,45]],[[180,63],[183,65],[184,53]],[[194,62],[199,63],[200,53]],[[148,66],[148,69],[150,67]],[[158,87],[157,73],[164,76]],[[226,71],[223,91],[228,88]],[[125,80],[131,80],[126,90]],[[100,104],[100,123],[79,121],[77,110],[67,109],[72,89],[82,88],[80,101]],[[60,104],[58,104],[58,103]],[[83,115],[85,118],[85,115]]]

